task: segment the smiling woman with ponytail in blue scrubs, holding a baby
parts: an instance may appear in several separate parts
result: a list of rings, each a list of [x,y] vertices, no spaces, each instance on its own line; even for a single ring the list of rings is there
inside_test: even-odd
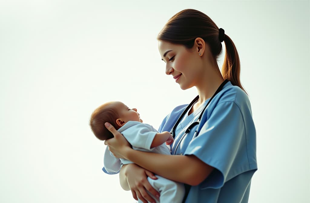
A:
[[[174,132],[174,156],[133,150],[107,123],[114,135],[105,141],[110,151],[136,163],[122,167],[122,188],[131,189],[136,200],[153,202],[148,192],[154,197],[159,194],[147,176],[155,179],[154,173],[184,183],[184,202],[248,202],[257,170],[256,133],[250,101],[239,80],[234,43],[207,15],[193,9],[172,16],[157,39],[166,74],[181,89],[195,86],[198,96],[190,105],[176,107],[159,128],[159,132]],[[217,59],[223,41],[226,54],[221,74]]]

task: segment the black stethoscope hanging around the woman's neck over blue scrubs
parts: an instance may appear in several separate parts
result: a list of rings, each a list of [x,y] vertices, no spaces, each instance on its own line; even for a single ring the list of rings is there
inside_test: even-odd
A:
[[[209,103],[211,102],[211,100],[215,97],[215,95],[216,95],[217,93],[219,93],[219,92],[223,89],[224,85],[225,85],[226,83],[228,83],[228,82],[229,82],[229,81],[228,81],[227,79],[224,80],[224,82],[219,86],[219,88],[216,90],[216,92],[213,94],[213,96],[211,97],[211,99],[208,101],[208,103],[206,104],[206,106],[205,106],[205,107],[203,108],[203,110],[201,111],[199,118],[198,118],[196,121],[194,121],[193,123],[191,123],[191,124],[187,127],[187,129],[185,130],[185,132],[184,132],[184,134],[182,135],[181,139],[180,139],[179,142],[177,143],[173,155],[175,155],[175,153],[176,153],[176,151],[177,151],[177,149],[178,149],[180,143],[181,143],[182,140],[184,139],[184,137],[187,136],[190,132],[193,132],[195,126],[198,126],[198,124],[200,123],[202,114],[203,114],[203,112],[205,111],[205,109],[207,108],[207,106],[209,105]],[[181,119],[183,118],[183,116],[188,112],[188,110],[193,106],[193,104],[196,103],[196,102],[198,101],[198,99],[199,99],[199,95],[193,99],[193,101],[192,101],[192,102],[185,108],[185,110],[182,112],[182,114],[180,115],[179,119],[175,122],[175,125],[173,126],[173,128],[172,128],[172,130],[171,130],[171,132],[170,132],[170,133],[172,134],[173,139],[175,139],[175,129],[176,129],[176,127],[179,125],[179,122],[181,121]],[[181,131],[181,132],[182,132],[182,131]],[[198,132],[197,132],[197,127],[196,127],[192,139],[194,139],[197,135],[198,135]],[[173,146],[174,146],[174,145],[175,145],[175,143],[173,143]],[[172,148],[173,148],[173,147],[172,147]]]

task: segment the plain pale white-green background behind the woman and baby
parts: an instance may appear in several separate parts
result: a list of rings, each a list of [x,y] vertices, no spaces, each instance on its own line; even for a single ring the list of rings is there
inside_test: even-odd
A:
[[[240,55],[257,131],[249,202],[310,201],[309,1],[2,0],[0,202],[135,202],[101,171],[89,118],[118,100],[157,128],[197,95],[165,75],[157,49],[186,8],[224,28]]]

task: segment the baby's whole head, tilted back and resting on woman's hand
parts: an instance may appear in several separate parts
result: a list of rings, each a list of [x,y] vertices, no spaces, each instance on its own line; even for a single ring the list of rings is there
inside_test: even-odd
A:
[[[120,101],[110,101],[99,106],[92,114],[89,122],[91,130],[99,140],[113,138],[113,134],[108,131],[104,123],[112,124],[116,130],[128,121],[143,122],[137,109],[130,109]]]

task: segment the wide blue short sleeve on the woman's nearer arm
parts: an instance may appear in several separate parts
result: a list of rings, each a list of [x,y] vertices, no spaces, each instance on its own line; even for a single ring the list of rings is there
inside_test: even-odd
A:
[[[195,155],[215,168],[202,182],[202,189],[221,188],[229,179],[250,170],[245,124],[234,102],[217,104],[211,113],[202,116],[201,125],[184,155]]]

